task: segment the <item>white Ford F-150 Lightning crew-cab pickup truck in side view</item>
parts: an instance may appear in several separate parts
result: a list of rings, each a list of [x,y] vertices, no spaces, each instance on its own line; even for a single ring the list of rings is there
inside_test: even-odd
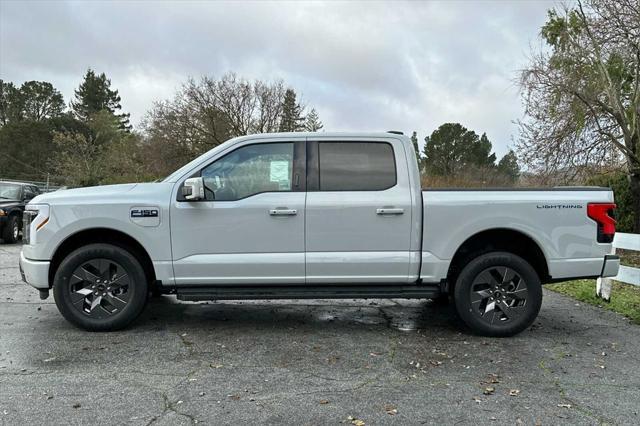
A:
[[[178,299],[453,299],[476,333],[524,330],[542,283],[618,272],[608,188],[425,190],[397,133],[232,139],[155,183],[39,195],[23,279],[86,330]]]

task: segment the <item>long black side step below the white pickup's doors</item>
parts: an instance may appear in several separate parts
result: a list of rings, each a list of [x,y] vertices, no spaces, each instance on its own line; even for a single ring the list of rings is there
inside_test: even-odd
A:
[[[177,287],[179,300],[248,299],[432,299],[439,285],[252,285]]]

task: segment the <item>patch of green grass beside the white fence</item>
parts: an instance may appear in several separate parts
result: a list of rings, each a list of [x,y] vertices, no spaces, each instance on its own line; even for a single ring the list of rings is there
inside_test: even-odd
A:
[[[581,302],[618,312],[635,324],[640,324],[640,287],[614,281],[611,302],[596,297],[595,280],[567,281],[545,286],[549,290],[571,296]]]

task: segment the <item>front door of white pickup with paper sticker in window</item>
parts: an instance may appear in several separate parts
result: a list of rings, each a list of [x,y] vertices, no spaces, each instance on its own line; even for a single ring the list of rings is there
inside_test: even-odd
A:
[[[304,151],[303,139],[247,142],[199,171],[205,200],[176,195],[176,285],[304,283]]]

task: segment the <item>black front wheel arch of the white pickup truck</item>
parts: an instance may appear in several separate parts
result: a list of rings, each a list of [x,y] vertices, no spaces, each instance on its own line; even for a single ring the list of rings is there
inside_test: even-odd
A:
[[[121,247],[129,251],[138,259],[144,269],[147,282],[155,285],[156,273],[149,253],[142,244],[131,235],[112,228],[90,228],[69,235],[56,248],[49,267],[49,287],[53,285],[53,278],[65,257],[72,251],[92,243],[106,243]],[[152,288],[152,287],[151,287]]]

